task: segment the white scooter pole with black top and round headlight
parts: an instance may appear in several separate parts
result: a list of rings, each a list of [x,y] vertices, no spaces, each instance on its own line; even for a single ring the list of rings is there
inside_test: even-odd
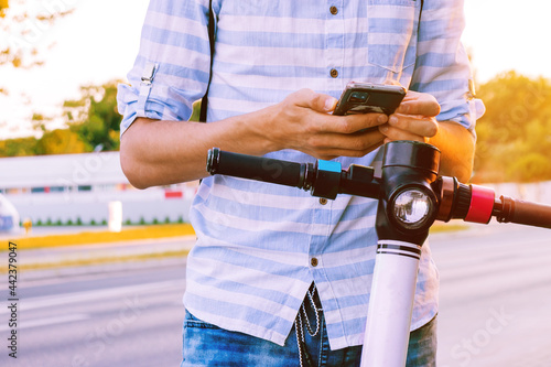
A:
[[[432,183],[439,160],[440,152],[428,144],[385,145],[361,367],[406,366],[421,246],[437,213]]]

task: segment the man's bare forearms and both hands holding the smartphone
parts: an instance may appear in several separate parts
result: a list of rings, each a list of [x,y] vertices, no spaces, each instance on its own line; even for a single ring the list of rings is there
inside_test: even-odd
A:
[[[138,118],[121,138],[122,170],[136,187],[144,188],[205,177],[213,147],[253,155],[294,149],[327,160],[364,156],[385,139],[424,141],[439,131],[431,143],[442,151],[443,172],[471,174],[473,137],[457,123],[440,122],[439,130],[434,116],[440,107],[433,97],[408,93],[390,120],[383,114],[333,116],[335,105],[328,95],[301,89],[277,105],[212,123]],[[385,133],[377,128],[381,125],[388,127]]]

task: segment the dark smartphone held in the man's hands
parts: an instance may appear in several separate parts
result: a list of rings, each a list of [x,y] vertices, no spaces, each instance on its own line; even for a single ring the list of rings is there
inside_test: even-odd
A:
[[[350,82],[343,90],[333,115],[370,112],[391,115],[404,96],[406,88],[402,86]]]

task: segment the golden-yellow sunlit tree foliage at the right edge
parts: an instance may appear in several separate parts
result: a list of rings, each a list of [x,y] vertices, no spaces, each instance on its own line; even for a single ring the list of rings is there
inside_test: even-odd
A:
[[[515,72],[479,87],[486,105],[477,122],[478,182],[551,180],[551,83]]]

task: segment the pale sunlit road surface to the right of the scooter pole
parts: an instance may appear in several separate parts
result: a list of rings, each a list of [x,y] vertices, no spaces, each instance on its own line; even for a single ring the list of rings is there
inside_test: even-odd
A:
[[[551,231],[514,225],[431,236],[439,367],[551,366]]]

